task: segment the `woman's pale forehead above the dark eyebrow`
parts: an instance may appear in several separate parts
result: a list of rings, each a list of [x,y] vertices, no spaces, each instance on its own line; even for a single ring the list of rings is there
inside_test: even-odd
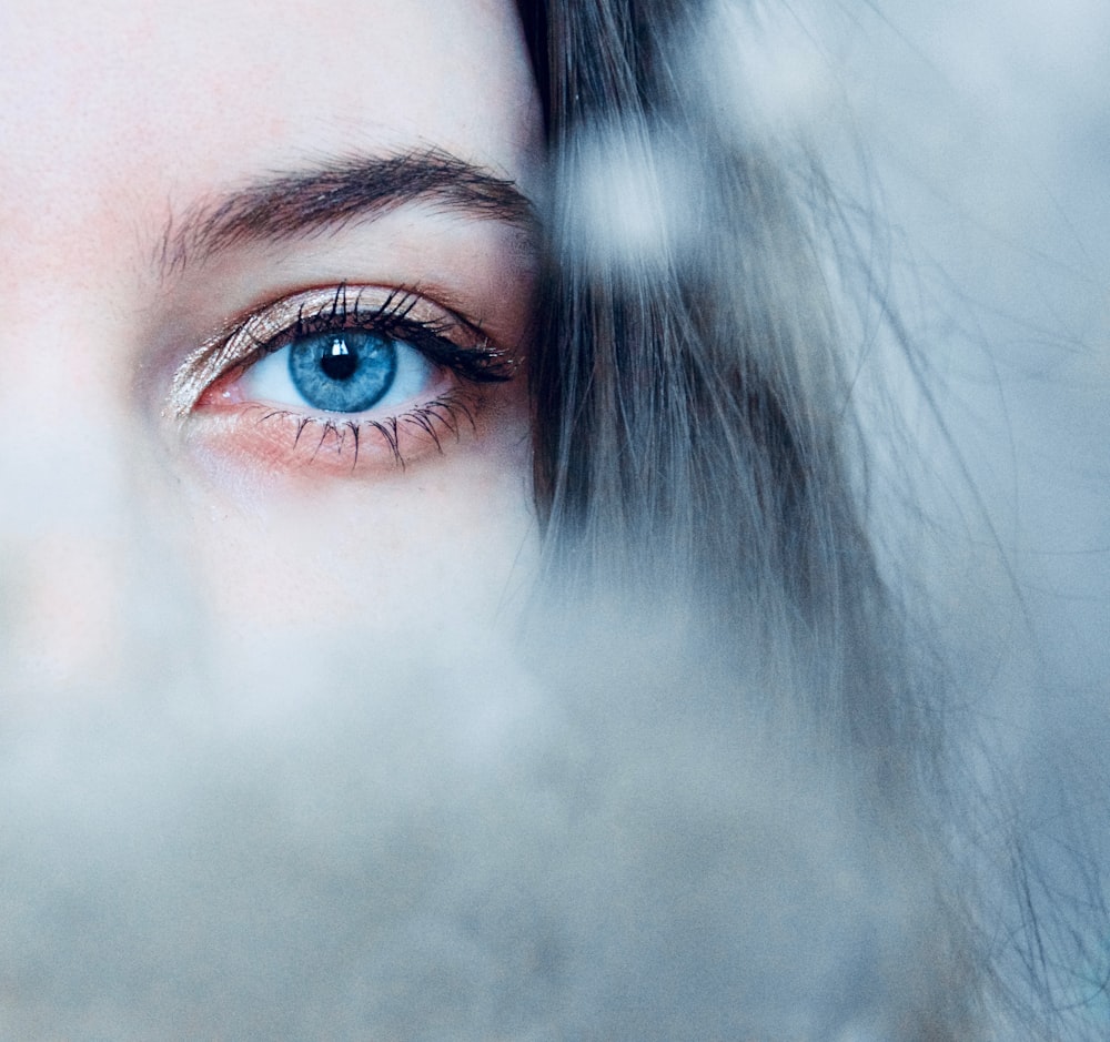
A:
[[[9,231],[354,150],[432,144],[518,176],[535,145],[508,0],[8,0],[0,39]]]

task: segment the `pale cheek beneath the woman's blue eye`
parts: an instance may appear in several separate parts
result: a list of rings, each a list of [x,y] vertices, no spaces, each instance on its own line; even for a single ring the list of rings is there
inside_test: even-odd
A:
[[[496,433],[373,482],[294,482],[234,498],[191,494],[215,682],[294,697],[372,685],[512,629],[538,544],[523,411]],[[445,668],[447,668],[445,666]]]

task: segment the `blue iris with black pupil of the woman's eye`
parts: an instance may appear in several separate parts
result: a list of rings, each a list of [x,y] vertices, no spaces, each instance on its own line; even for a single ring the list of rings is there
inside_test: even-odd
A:
[[[357,330],[302,336],[289,345],[289,375],[314,408],[361,413],[393,385],[397,351],[393,341]]]

